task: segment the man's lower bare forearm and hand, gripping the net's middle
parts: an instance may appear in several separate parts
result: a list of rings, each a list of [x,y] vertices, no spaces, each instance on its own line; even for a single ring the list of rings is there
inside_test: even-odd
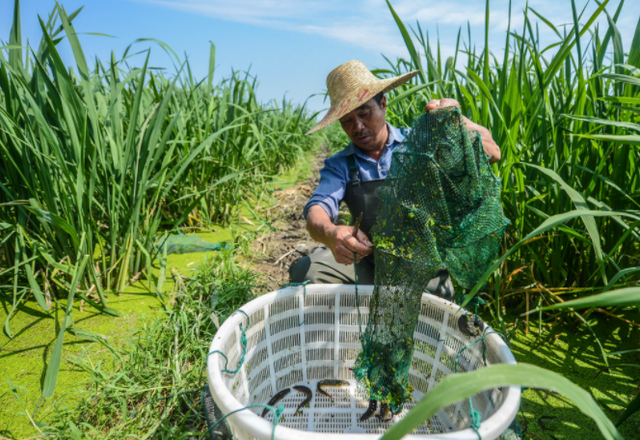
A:
[[[353,264],[354,252],[358,262],[373,252],[371,243],[362,231],[358,230],[357,237],[354,237],[353,226],[334,225],[319,205],[312,205],[307,211],[307,231],[311,238],[329,248],[340,264]]]

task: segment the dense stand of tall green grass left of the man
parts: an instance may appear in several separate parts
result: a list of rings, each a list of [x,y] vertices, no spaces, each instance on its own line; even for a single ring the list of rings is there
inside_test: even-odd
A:
[[[90,63],[73,20],[57,5],[40,19],[38,47],[23,47],[15,0],[0,50],[0,294],[4,331],[21,302],[43,311],[67,297],[43,395],[55,388],[74,299],[115,314],[109,290],[152,265],[165,231],[226,223],[275,174],[309,151],[314,118],[290,102],[261,104],[256,79],[234,72],[196,82],[187,62],[173,77],[117,59]],[[61,45],[75,65],[65,65]]]

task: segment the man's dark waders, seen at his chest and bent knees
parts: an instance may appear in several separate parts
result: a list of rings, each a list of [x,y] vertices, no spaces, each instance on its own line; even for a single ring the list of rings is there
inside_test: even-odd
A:
[[[404,133],[403,133],[404,134]],[[360,172],[356,163],[355,154],[347,156],[349,166],[349,182],[345,188],[342,201],[349,208],[351,218],[355,219],[362,213],[360,230],[371,238],[371,229],[378,217],[378,204],[380,198],[378,189],[384,179],[360,180]],[[364,257],[355,265],[358,274],[358,284],[373,284],[375,273],[373,253]],[[311,281],[318,284],[355,284],[354,265],[338,263],[333,253],[328,248],[317,247],[310,255],[298,259],[289,267],[289,275],[294,283]],[[427,285],[427,290],[449,301],[453,301],[453,284],[446,270]]]

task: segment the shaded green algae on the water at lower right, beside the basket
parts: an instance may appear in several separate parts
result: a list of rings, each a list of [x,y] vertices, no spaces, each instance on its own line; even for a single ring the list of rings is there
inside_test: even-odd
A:
[[[630,312],[625,313],[631,315]],[[634,315],[627,316],[627,319],[637,322],[638,313]],[[602,315],[597,318],[591,324],[607,352],[640,348],[640,328]],[[573,318],[567,315],[566,322],[573,322]],[[600,349],[588,329],[569,327],[557,324],[543,328],[542,336],[538,337],[537,322],[532,321],[528,336],[520,328],[517,337],[511,339],[511,351],[516,361],[560,373],[589,391],[605,414],[615,422],[620,411],[636,393],[640,354],[609,357],[611,370],[607,372]],[[629,367],[616,367],[622,364]],[[603,373],[599,374],[601,371]],[[526,416],[530,438],[602,438],[593,420],[562,395],[542,390],[525,390],[521,410]],[[522,414],[518,415],[518,420],[524,427]],[[628,440],[640,438],[640,414],[636,413],[629,418],[619,430]]]

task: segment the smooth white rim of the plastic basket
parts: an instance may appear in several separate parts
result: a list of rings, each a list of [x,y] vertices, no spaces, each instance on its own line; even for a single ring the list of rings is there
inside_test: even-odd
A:
[[[313,289],[315,291],[323,291],[323,293],[337,293],[337,292],[345,292],[345,290],[353,290],[354,285],[347,284],[307,284],[307,291]],[[359,285],[358,291],[364,294],[372,294],[374,286],[372,285]],[[253,299],[247,304],[240,307],[237,311],[235,311],[227,320],[220,326],[218,331],[213,337],[213,341],[211,342],[211,346],[209,347],[209,353],[214,350],[222,350],[224,342],[226,342],[227,337],[233,331],[235,331],[236,326],[241,323],[246,323],[246,316],[243,313],[239,313],[239,311],[245,312],[248,316],[254,313],[256,310],[273,303],[277,299],[283,299],[287,297],[292,297],[302,292],[303,286],[296,287],[286,287],[283,289],[275,290],[270,293],[266,293],[258,298]],[[444,299],[432,295],[430,293],[422,294],[422,302],[425,302],[425,299],[429,302],[436,302],[457,312],[460,310],[460,307],[452,303],[450,301],[445,301]],[[489,329],[490,326],[487,325]],[[498,349],[500,349],[505,356],[507,362],[506,364],[516,365],[517,362],[511,353],[511,350],[507,347],[505,342],[495,333],[491,333],[486,336],[487,340],[491,343],[495,344]],[[228,414],[232,411],[237,411],[244,408],[244,405],[240,403],[229,391],[227,386],[223,382],[222,371],[219,367],[219,357],[216,355],[211,355],[207,359],[207,379],[208,386],[211,391],[211,395],[215,400],[216,404],[220,407],[220,410],[223,414]],[[242,374],[242,370],[237,374]],[[482,422],[479,432],[482,438],[488,438],[489,436],[495,435],[496,429],[499,430],[498,435],[500,435],[505,429],[509,427],[509,424],[515,418],[518,408],[520,407],[520,394],[521,388],[519,386],[509,386],[508,390],[505,392],[505,399],[502,402],[500,408],[503,408],[502,411],[497,411],[491,416],[489,416],[485,421]],[[426,396],[426,394],[425,394]],[[228,417],[231,428],[233,429],[233,425],[237,426],[239,429],[243,430],[250,436],[261,440],[270,440],[271,433],[273,431],[273,424],[262,417],[258,416],[252,411],[239,411],[235,414],[232,414]],[[489,426],[488,426],[489,425]],[[279,440],[298,440],[304,436],[306,440],[327,440],[327,436],[340,436],[337,437],[340,440],[373,440],[378,439],[380,434],[362,434],[362,433],[326,433],[326,432],[311,432],[311,431],[303,431],[300,429],[289,428],[286,426],[278,425],[276,427],[276,437]],[[404,438],[407,440],[424,440],[424,439],[442,439],[442,440],[462,440],[475,438],[477,434],[471,429],[466,428],[460,431],[440,433],[440,434],[432,434],[432,435],[416,435],[409,434]]]

